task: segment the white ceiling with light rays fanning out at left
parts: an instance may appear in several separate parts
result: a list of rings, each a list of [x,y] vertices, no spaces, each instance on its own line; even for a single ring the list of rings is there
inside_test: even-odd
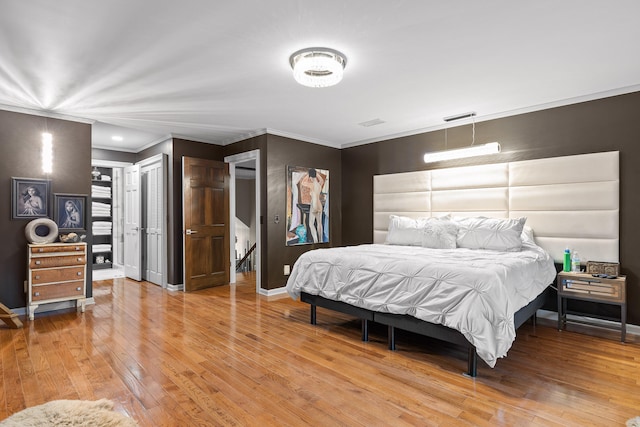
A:
[[[637,0],[2,0],[0,108],[98,121],[94,147],[266,131],[346,147],[640,90]],[[289,55],[346,54],[300,86]],[[384,123],[364,127],[359,123]],[[125,127],[130,129],[118,129]],[[117,132],[122,142],[113,141]]]

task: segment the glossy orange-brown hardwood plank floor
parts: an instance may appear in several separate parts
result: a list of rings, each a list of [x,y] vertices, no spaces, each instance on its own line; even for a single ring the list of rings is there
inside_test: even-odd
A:
[[[168,292],[94,282],[86,313],[0,328],[0,419],[54,399],[108,398],[141,426],[623,426],[640,415],[640,339],[524,325],[478,378],[466,353],[234,286]]]

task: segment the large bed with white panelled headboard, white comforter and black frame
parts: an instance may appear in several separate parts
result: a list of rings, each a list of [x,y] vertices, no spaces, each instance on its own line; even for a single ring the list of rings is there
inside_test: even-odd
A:
[[[477,357],[495,366],[542,307],[566,246],[617,262],[618,175],[608,152],[376,176],[374,244],[303,254],[287,291],[310,304],[311,323],[320,306],[362,319],[364,340],[369,322],[387,325],[390,349],[395,328],[466,346],[476,376]],[[536,237],[518,233],[517,249],[431,248],[414,231],[405,245],[391,235],[398,218],[522,225],[511,241],[526,222]]]

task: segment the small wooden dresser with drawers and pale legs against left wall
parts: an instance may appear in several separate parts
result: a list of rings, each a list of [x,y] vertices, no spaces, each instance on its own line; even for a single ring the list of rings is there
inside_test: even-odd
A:
[[[27,263],[27,313],[29,319],[41,304],[76,301],[84,313],[87,244],[29,245]]]

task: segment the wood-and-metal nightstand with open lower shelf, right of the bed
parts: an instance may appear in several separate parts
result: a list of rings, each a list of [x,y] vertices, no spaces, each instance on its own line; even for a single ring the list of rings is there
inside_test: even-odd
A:
[[[620,307],[620,341],[624,342],[627,333],[627,279],[593,277],[586,273],[561,271],[558,273],[558,330],[567,322],[592,324],[582,320],[567,320],[567,300],[575,299],[611,304]],[[617,320],[609,319],[607,320]],[[598,325],[601,327],[607,327]],[[617,328],[615,328],[617,330]]]

